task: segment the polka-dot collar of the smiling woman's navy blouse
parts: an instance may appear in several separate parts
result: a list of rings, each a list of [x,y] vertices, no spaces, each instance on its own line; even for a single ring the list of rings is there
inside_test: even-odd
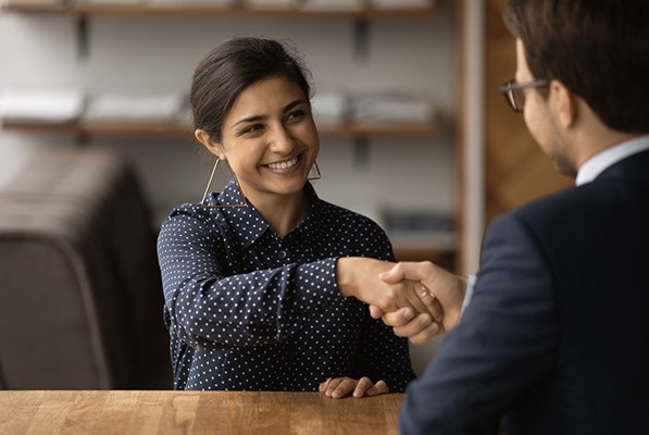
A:
[[[315,194],[315,189],[311,183],[307,182],[303,187],[303,191],[307,194],[307,198],[311,204],[303,224],[311,227],[312,225],[317,225],[314,220],[319,214],[317,210],[322,207],[322,201]],[[245,202],[245,198],[239,185],[234,178],[229,181],[222,192],[217,195],[210,195],[207,199],[207,202],[210,206],[234,206],[214,208],[211,210],[217,210],[224,217],[226,217],[227,221],[229,221],[230,229],[241,241],[242,248],[247,248],[252,245],[267,229],[270,229],[266,221],[250,202],[246,201],[245,207],[237,207],[237,204],[242,204]],[[302,227],[303,224],[300,224],[299,227]]]

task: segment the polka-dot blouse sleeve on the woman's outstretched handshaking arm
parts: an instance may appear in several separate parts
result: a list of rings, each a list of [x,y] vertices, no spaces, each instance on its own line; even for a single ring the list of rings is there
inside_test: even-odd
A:
[[[227,276],[203,216],[176,212],[158,256],[170,327],[204,350],[282,341],[341,298],[336,258]]]

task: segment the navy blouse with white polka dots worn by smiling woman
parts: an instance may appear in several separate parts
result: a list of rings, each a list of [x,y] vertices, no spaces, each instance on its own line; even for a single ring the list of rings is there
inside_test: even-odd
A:
[[[282,238],[252,204],[184,204],[158,254],[176,389],[317,390],[327,377],[414,378],[408,341],[337,288],[338,257],[392,260],[376,223],[304,187],[307,219]],[[230,182],[208,203],[241,203]]]

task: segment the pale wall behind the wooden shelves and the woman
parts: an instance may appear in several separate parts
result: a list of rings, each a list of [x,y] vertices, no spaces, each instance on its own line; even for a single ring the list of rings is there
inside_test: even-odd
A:
[[[316,91],[414,90],[432,97],[452,123],[458,76],[453,13],[447,1],[432,20],[372,21],[366,59],[354,57],[354,27],[348,18],[100,16],[89,21],[89,57],[79,59],[74,17],[0,14],[0,88],[188,90],[195,65],[213,46],[254,34],[292,39],[311,66]],[[60,146],[75,146],[74,137],[0,130],[0,185],[40,147]],[[175,204],[199,199],[211,169],[190,140],[99,139],[90,146],[110,147],[133,160],[157,220]],[[451,126],[434,138],[373,140],[366,159],[359,161],[350,139],[325,136],[316,189],[324,199],[377,219],[383,207],[453,212],[454,146]],[[430,349],[415,351],[417,371]]]

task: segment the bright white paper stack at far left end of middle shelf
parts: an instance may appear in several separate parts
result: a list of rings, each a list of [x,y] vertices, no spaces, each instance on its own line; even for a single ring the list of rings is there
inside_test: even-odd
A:
[[[84,111],[80,89],[0,90],[0,120],[21,123],[66,123],[77,120]]]

